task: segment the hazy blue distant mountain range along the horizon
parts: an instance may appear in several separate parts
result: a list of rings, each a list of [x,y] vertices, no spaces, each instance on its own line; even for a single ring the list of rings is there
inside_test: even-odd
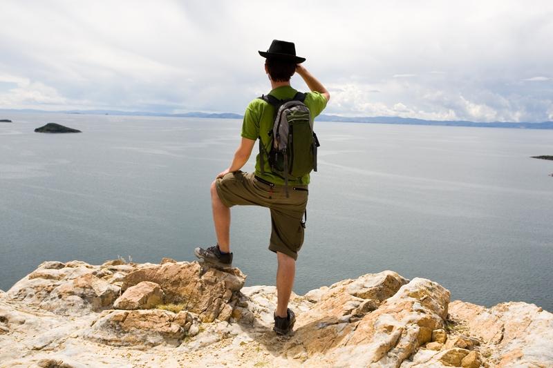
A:
[[[1,113],[8,115],[10,112],[19,113],[66,113],[88,115],[126,115],[126,116],[161,116],[161,117],[196,117],[211,119],[242,119],[243,115],[234,113],[147,113],[143,111],[120,110],[63,110],[45,111],[34,109],[0,109]],[[8,117],[8,116],[6,116]],[[526,123],[526,122],[492,122],[476,123],[465,120],[424,120],[411,117],[345,117],[339,115],[319,115],[318,122],[343,122],[343,123],[367,123],[367,124],[401,124],[401,125],[433,125],[433,126],[474,126],[485,128],[521,128],[521,129],[553,129],[553,122]]]

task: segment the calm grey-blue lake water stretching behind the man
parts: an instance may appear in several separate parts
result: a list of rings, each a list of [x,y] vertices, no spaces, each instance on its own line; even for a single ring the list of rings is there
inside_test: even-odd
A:
[[[6,113],[0,289],[44,260],[194,260],[214,243],[209,184],[241,121]],[[84,133],[48,135],[57,122]],[[386,269],[487,306],[553,311],[553,130],[317,123],[294,291]],[[254,150],[255,152],[256,150]],[[246,164],[251,171],[254,155]],[[234,265],[274,284],[267,209],[232,209]]]

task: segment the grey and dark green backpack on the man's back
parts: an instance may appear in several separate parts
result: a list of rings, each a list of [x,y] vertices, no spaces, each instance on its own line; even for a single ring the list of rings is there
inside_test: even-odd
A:
[[[259,97],[274,107],[274,122],[269,132],[271,139],[269,151],[259,139],[259,166],[265,173],[265,156],[271,171],[284,179],[286,197],[288,180],[298,180],[317,171],[317,147],[320,146],[313,132],[311,113],[303,104],[304,93],[296,93],[292,99],[277,99],[272,95]]]

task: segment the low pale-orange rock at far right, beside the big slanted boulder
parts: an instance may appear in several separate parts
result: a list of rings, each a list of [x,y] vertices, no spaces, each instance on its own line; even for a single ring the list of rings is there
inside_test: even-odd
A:
[[[534,304],[491,308],[456,300],[449,304],[447,333],[401,367],[552,367],[553,315]]]

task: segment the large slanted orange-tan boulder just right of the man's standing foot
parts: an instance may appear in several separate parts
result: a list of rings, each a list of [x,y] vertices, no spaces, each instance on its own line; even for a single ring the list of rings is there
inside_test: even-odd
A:
[[[379,296],[382,300],[351,302],[348,300],[351,287],[331,287],[327,293],[332,294],[323,296],[324,304],[320,307],[315,304],[306,313],[308,323],[297,329],[288,347],[294,352],[297,349],[293,347],[303,347],[308,360],[316,365],[355,362],[358,367],[399,367],[431,340],[432,331],[444,327],[449,291],[430,280],[415,278],[404,283],[406,280],[389,271],[383,276],[382,273],[363,276],[360,284],[367,282],[371,287],[359,290],[358,294],[368,298]],[[397,289],[386,287],[386,281],[397,285]],[[388,293],[374,293],[375,287]],[[376,300],[377,308],[362,309],[367,300]],[[323,310],[330,313],[321,318]]]

